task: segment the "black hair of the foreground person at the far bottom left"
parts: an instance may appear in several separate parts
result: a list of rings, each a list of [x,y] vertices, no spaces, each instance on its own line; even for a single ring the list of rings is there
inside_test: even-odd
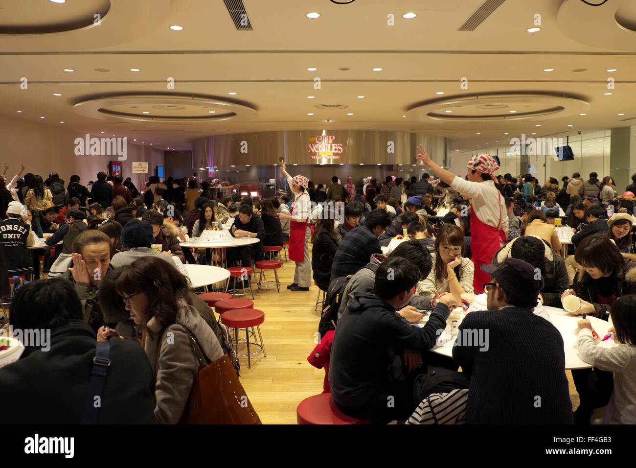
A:
[[[55,329],[83,317],[83,307],[73,284],[53,278],[33,281],[18,290],[11,303],[9,324],[20,330]]]

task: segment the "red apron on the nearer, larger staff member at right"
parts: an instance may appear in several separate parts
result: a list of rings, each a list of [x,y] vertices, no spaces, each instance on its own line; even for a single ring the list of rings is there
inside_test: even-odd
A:
[[[501,194],[497,202],[501,201]],[[499,226],[501,226],[501,204],[499,206]],[[490,282],[490,274],[481,271],[481,266],[490,264],[495,253],[501,247],[499,241],[507,242],[504,231],[499,226],[492,227],[482,223],[471,204],[471,255],[475,267],[473,275],[474,294],[483,293],[483,285]]]

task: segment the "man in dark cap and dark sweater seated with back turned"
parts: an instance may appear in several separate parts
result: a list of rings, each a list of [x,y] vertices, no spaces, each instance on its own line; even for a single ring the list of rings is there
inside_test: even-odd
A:
[[[490,278],[488,310],[466,315],[453,346],[455,364],[470,375],[466,423],[572,424],[563,338],[533,313],[541,274],[512,258],[481,271]]]

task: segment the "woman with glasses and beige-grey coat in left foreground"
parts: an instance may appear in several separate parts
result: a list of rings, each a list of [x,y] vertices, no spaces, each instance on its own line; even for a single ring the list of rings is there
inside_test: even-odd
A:
[[[176,424],[200,370],[186,327],[209,362],[222,357],[223,348],[211,327],[216,320],[190,291],[188,278],[157,257],[142,257],[118,269],[113,299],[102,305],[107,316],[121,315],[123,306],[143,330],[141,343],[156,374],[155,423]],[[117,295],[121,306],[114,304]]]

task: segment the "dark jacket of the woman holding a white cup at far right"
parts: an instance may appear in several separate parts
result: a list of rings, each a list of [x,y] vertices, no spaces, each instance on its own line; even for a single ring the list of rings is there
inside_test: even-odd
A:
[[[636,294],[636,255],[633,253],[623,253],[622,255],[625,263],[617,271],[614,283],[614,292],[618,297]],[[589,315],[607,320],[611,305],[598,303],[598,290],[595,283],[596,280],[593,280],[586,271],[581,270],[574,279],[574,292],[577,297],[583,301],[591,302],[594,306],[595,311]]]

